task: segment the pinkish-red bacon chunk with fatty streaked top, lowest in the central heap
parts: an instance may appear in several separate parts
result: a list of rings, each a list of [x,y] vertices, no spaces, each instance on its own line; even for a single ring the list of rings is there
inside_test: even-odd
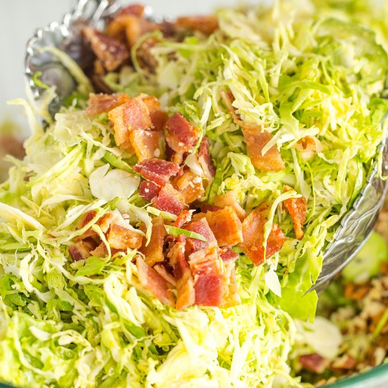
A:
[[[191,253],[188,264],[194,279],[195,304],[219,306],[224,296],[224,272],[215,243]]]

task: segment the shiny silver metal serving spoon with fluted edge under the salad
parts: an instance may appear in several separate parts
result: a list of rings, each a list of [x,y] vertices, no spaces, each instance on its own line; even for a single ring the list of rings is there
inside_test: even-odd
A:
[[[92,62],[92,55],[83,45],[80,30],[85,25],[104,28],[109,17],[113,16],[120,6],[117,0],[79,0],[74,10],[66,13],[61,24],[54,22],[37,30],[35,36],[28,42],[25,75],[37,99],[43,90],[35,85],[32,79],[35,72],[42,72],[41,80],[44,83],[56,85],[58,97],[50,106],[52,114],[58,111],[63,99],[75,90],[76,83],[58,59],[40,49],[45,46],[57,47],[66,51],[81,68],[87,68]],[[147,16],[152,18],[150,9],[147,9]],[[383,150],[382,174],[387,176],[388,142],[384,141],[380,145],[380,150]],[[365,187],[356,198],[353,207],[342,218],[333,241],[325,249],[322,272],[312,289],[318,292],[325,289],[334,275],[358,253],[375,228],[387,189],[387,181],[380,178],[375,162],[370,169]]]

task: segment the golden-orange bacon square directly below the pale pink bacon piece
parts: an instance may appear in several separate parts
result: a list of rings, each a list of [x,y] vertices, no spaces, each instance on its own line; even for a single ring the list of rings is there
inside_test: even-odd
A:
[[[139,162],[154,157],[163,157],[164,136],[162,131],[136,129],[131,131],[129,138]]]

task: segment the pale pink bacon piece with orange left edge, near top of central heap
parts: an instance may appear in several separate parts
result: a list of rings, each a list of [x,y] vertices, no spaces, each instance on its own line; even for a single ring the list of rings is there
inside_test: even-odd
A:
[[[152,128],[150,111],[139,96],[109,111],[108,117],[114,125],[117,145],[131,141],[131,130]]]

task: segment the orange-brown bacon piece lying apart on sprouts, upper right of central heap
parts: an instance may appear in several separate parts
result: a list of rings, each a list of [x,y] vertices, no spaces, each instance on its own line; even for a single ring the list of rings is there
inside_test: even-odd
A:
[[[276,145],[263,155],[262,149],[272,139],[272,134],[262,131],[260,126],[245,126],[243,136],[247,145],[248,156],[253,166],[262,171],[281,171],[286,168]]]

